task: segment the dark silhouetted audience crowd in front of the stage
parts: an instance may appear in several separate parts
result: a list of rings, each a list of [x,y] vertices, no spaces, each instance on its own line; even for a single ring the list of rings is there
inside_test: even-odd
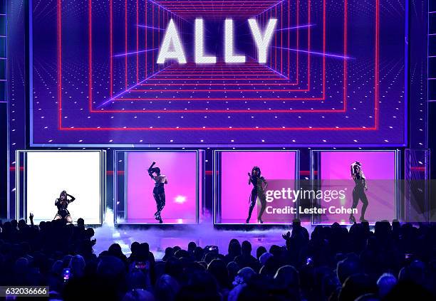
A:
[[[436,300],[434,224],[335,223],[309,234],[294,221],[283,245],[191,242],[162,260],[146,242],[128,256],[117,243],[95,254],[93,236],[83,219],[1,223],[1,285],[48,285],[51,300],[66,301]]]

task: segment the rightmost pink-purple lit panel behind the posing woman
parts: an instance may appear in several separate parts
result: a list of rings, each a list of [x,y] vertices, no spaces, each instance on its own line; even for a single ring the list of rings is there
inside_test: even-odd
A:
[[[346,199],[343,206],[351,208],[353,204],[354,181],[351,178],[351,164],[362,164],[362,171],[367,179],[368,208],[365,219],[370,223],[395,217],[395,152],[321,152],[321,174],[323,184],[329,180],[342,180],[346,184]],[[341,182],[342,182],[341,181]],[[332,181],[338,184],[338,181]],[[338,206],[338,202],[331,204]],[[325,206],[325,203],[323,204]],[[358,203],[358,221],[362,202]],[[347,214],[327,214],[322,216],[323,223],[348,223]]]

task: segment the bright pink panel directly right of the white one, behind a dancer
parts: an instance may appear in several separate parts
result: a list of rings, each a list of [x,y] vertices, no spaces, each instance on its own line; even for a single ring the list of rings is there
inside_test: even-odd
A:
[[[155,186],[147,169],[152,162],[168,179],[166,204],[162,211],[165,223],[195,223],[197,216],[196,152],[128,152],[128,221],[150,219],[156,212],[152,191]]]

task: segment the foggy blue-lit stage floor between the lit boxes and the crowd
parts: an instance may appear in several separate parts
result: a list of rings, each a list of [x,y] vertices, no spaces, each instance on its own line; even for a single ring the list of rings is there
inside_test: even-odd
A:
[[[307,229],[309,235],[316,225],[310,222],[302,222],[301,226]],[[349,228],[349,225],[341,225]],[[94,246],[95,255],[103,250],[108,250],[111,244],[118,243],[125,255],[130,254],[130,245],[138,243],[148,243],[150,251],[155,255],[155,259],[162,259],[165,255],[165,248],[179,245],[187,249],[188,243],[194,241],[197,245],[204,248],[207,245],[217,245],[219,253],[227,254],[229,241],[236,238],[239,243],[249,241],[252,245],[251,255],[256,255],[256,249],[263,245],[269,250],[271,245],[284,246],[285,241],[282,234],[292,231],[291,225],[260,225],[250,223],[248,225],[213,225],[212,223],[202,223],[198,225],[174,225],[164,223],[142,224],[142,225],[118,225],[113,223],[111,211],[106,212],[105,223],[94,228],[97,243]]]

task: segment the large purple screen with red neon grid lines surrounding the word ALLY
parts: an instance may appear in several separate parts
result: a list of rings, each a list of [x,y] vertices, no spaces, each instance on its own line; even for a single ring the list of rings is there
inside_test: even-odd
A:
[[[395,22],[405,16],[384,11],[380,1],[90,0],[78,10],[76,1],[57,0],[56,43],[52,35],[33,40],[33,144],[403,145],[404,33]],[[36,11],[33,35],[50,22],[43,26]],[[199,16],[217,65],[192,61]],[[225,17],[235,21],[245,64],[222,62]],[[251,17],[261,25],[279,20],[265,65],[250,43]],[[155,63],[170,19],[187,65]]]

